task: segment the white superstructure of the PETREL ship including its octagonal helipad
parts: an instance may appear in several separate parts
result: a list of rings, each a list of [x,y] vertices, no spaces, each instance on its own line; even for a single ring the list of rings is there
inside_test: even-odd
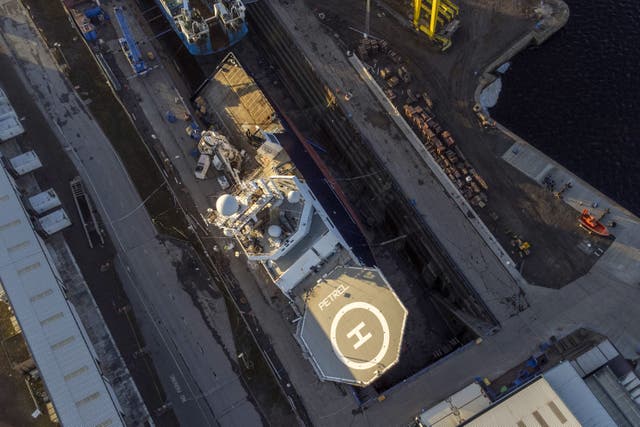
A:
[[[407,310],[378,268],[360,264],[303,180],[242,182],[216,211],[210,222],[292,301],[296,338],[321,379],[366,386],[398,362]]]

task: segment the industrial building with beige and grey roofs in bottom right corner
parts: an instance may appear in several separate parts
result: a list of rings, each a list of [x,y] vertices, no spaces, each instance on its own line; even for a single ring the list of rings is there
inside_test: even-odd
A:
[[[638,402],[631,364],[603,340],[497,396],[488,382],[470,384],[423,411],[416,425],[632,427],[640,423]]]

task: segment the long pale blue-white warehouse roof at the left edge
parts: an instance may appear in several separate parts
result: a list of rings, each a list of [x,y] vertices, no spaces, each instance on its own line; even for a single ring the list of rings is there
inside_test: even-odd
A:
[[[0,168],[0,285],[65,426],[122,426],[58,272]]]

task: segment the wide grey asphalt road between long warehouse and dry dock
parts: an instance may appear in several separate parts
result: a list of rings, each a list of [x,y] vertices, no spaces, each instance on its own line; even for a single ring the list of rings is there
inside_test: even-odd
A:
[[[177,417],[184,425],[260,425],[225,349],[183,289],[174,266],[182,249],[158,239],[120,159],[22,5],[0,1],[0,22],[2,54],[11,57],[25,93],[59,137],[48,142],[67,151],[106,223],[118,251],[116,268]]]

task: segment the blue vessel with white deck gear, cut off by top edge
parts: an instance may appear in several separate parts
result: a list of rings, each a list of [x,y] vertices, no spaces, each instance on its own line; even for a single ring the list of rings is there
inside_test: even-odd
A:
[[[247,35],[241,0],[155,0],[191,55],[210,55]]]

